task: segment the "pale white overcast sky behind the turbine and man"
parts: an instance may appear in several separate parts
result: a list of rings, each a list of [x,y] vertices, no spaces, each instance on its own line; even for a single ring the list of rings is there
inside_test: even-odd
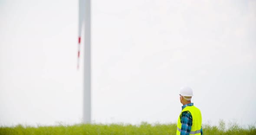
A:
[[[93,122],[176,122],[184,85],[203,123],[256,122],[255,0],[91,6]],[[78,0],[0,0],[0,125],[82,122],[77,38]]]

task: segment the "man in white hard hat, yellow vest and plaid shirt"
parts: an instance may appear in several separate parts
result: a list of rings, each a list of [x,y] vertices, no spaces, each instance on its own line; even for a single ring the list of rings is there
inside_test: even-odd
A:
[[[192,96],[190,87],[181,88],[180,101],[183,106],[177,122],[177,135],[203,135],[201,112],[191,103]]]

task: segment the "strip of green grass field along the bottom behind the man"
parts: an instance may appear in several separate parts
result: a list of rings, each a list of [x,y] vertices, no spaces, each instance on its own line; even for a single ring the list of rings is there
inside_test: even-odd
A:
[[[219,126],[203,126],[203,135],[256,135],[255,125],[241,128],[238,124],[219,122]],[[176,124],[77,124],[30,127],[0,127],[0,135],[176,135]]]

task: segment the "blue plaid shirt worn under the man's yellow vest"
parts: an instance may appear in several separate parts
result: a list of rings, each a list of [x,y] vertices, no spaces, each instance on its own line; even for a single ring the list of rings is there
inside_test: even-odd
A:
[[[194,103],[188,103],[182,106],[182,110],[187,106],[194,106]],[[189,111],[182,112],[181,114],[181,135],[189,135],[192,126],[192,115]],[[203,129],[201,127],[201,135],[203,135]]]

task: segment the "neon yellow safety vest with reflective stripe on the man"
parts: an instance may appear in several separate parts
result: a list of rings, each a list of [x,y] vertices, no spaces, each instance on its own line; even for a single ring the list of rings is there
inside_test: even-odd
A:
[[[192,115],[193,121],[192,121],[190,135],[201,135],[202,116],[201,116],[200,110],[195,106],[187,106],[181,111],[181,114],[184,111],[189,111]],[[180,114],[180,116],[178,118],[178,122],[177,122],[176,135],[181,134],[181,114]]]

